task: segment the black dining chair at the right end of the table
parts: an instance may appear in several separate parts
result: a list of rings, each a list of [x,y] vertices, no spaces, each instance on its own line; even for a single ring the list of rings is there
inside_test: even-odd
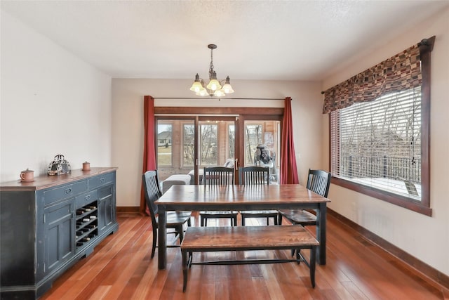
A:
[[[328,197],[331,174],[323,170],[309,169],[306,188],[323,197]],[[281,209],[279,210],[279,225],[282,224],[282,217],[295,225],[309,226],[316,225],[316,214],[311,214],[304,209]]]

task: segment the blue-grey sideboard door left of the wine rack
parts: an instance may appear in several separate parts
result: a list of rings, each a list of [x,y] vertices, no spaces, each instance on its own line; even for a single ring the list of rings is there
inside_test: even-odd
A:
[[[75,253],[75,199],[43,209],[45,236],[44,272],[51,273]]]

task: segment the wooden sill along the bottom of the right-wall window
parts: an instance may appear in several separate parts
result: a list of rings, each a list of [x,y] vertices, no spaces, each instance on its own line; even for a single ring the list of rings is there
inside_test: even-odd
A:
[[[425,207],[424,205],[410,200],[410,198],[402,197],[400,195],[395,195],[393,193],[385,192],[384,190],[379,190],[377,188],[370,188],[366,185],[361,185],[354,183],[352,181],[347,181],[342,178],[332,177],[331,183],[335,185],[340,185],[343,188],[348,188],[349,190],[354,190],[358,193],[368,195],[370,197],[375,197],[379,200],[389,202],[391,204],[398,205],[406,209],[410,209],[419,214],[424,214],[426,216],[432,215],[432,209],[430,207]]]

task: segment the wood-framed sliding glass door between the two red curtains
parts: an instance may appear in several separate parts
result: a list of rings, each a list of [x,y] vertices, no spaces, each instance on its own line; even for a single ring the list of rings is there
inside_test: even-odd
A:
[[[156,116],[156,163],[159,180],[188,174],[201,184],[203,168],[243,166],[270,168],[270,183],[279,174],[280,120],[263,116]]]

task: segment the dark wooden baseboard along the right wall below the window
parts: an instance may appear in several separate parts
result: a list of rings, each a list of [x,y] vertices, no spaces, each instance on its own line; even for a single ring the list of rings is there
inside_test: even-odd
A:
[[[427,282],[432,287],[441,290],[443,293],[447,293],[449,289],[449,276],[441,273],[439,270],[432,268],[417,259],[416,257],[408,254],[402,249],[396,247],[394,244],[387,242],[387,240],[382,239],[378,235],[370,232],[366,228],[354,223],[353,221],[347,219],[345,216],[338,214],[336,211],[328,208],[328,216],[333,216],[337,221],[340,221],[344,225],[348,226],[349,229],[355,230],[357,233],[365,237],[370,242],[373,242],[381,249],[383,249],[387,254],[394,256],[396,259],[401,261],[403,265],[402,268],[406,268],[407,270],[413,271],[417,276],[419,276],[422,280]],[[446,289],[443,291],[442,289]]]

